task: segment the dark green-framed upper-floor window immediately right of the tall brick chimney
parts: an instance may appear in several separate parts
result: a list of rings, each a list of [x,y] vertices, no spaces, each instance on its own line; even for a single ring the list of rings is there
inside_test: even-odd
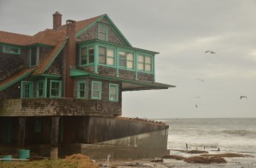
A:
[[[94,63],[94,48],[81,48],[80,65]]]

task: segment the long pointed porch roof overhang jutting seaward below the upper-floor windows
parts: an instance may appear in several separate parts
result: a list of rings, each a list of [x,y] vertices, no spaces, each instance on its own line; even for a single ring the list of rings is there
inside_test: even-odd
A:
[[[79,77],[79,76],[89,76],[96,79],[108,80],[108,81],[119,81],[122,83],[122,91],[139,91],[139,90],[155,90],[155,89],[168,89],[169,87],[175,87],[172,85],[167,85],[159,82],[150,82],[150,81],[135,81],[128,80],[124,78],[114,77],[114,76],[102,76],[96,73],[90,73],[84,70],[70,70],[70,76]]]

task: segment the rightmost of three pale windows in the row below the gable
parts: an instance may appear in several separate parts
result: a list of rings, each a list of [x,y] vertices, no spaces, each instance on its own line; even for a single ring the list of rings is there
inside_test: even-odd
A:
[[[139,54],[137,56],[137,69],[142,71],[152,71],[152,57]]]

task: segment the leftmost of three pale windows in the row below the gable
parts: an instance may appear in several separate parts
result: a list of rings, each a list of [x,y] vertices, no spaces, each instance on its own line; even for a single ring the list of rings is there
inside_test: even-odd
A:
[[[99,47],[99,63],[114,64],[114,50],[112,48]]]

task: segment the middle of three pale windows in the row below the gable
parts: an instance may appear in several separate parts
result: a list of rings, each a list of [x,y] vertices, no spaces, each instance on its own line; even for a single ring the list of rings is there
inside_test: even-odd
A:
[[[134,55],[128,52],[119,52],[119,67],[133,69]]]

